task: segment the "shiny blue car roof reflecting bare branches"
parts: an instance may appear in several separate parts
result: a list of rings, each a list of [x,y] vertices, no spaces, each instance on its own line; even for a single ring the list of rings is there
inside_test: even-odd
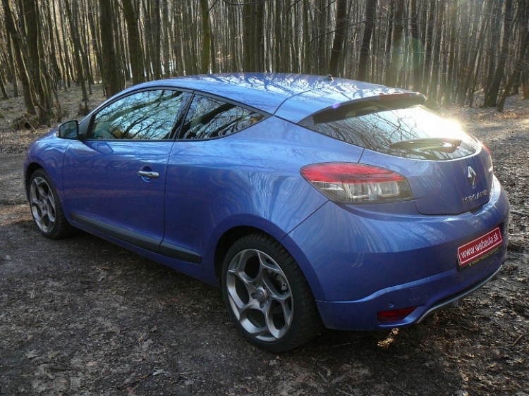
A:
[[[324,109],[384,94],[408,92],[345,78],[289,73],[189,75],[145,82],[142,87],[180,87],[238,101],[298,123]]]

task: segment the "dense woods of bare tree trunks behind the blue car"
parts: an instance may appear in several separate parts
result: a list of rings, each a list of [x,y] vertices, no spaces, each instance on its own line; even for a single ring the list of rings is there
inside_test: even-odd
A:
[[[529,98],[529,0],[1,0],[0,95],[39,123],[57,92],[195,73],[312,73],[442,104]],[[479,102],[478,102],[479,99]],[[85,105],[86,106],[86,105]]]

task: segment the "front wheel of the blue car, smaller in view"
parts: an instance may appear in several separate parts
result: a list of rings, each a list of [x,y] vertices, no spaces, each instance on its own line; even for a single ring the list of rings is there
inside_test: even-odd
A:
[[[73,233],[73,227],[64,217],[54,184],[42,169],[33,172],[29,184],[30,209],[40,233],[58,240]]]

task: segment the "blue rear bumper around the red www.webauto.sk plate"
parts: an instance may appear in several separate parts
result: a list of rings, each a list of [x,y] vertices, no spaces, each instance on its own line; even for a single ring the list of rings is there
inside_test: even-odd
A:
[[[407,326],[485,285],[506,259],[509,200],[496,180],[490,202],[454,216],[418,216],[413,202],[358,209],[328,202],[284,241],[308,279],[324,325]],[[500,247],[464,268],[458,248],[499,228]],[[288,242],[293,242],[289,245]],[[416,307],[398,321],[381,311]]]

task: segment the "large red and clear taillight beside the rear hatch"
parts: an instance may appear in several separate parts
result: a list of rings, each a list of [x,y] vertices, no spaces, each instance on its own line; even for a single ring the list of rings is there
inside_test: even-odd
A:
[[[380,204],[412,199],[403,175],[359,163],[315,163],[301,168],[301,175],[322,194],[346,204]]]

